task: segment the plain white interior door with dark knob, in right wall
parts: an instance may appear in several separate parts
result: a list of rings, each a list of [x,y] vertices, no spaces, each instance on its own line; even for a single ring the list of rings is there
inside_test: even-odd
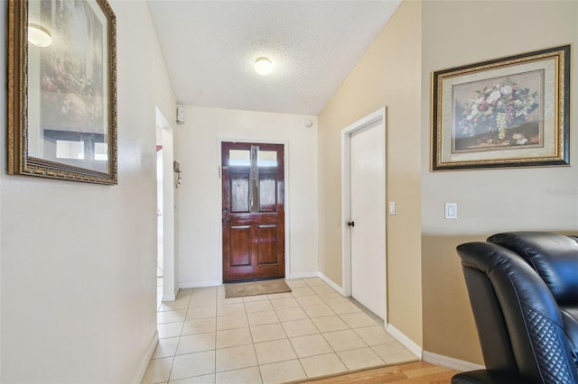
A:
[[[386,151],[381,121],[350,136],[351,296],[386,319]]]

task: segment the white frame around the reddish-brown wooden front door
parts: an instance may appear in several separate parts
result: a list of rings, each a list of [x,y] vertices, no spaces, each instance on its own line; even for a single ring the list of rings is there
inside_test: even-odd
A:
[[[285,279],[290,279],[290,275],[289,275],[289,271],[291,270],[291,257],[290,257],[290,252],[289,252],[289,216],[290,216],[290,206],[289,206],[289,142],[285,142],[285,141],[275,141],[275,140],[259,140],[259,139],[229,139],[229,138],[222,138],[219,137],[217,139],[217,164],[219,164],[219,169],[218,169],[218,173],[219,173],[219,177],[217,178],[217,184],[216,184],[216,191],[218,193],[219,198],[219,202],[217,204],[217,209],[215,211],[215,225],[216,227],[219,228],[219,239],[217,241],[217,251],[219,252],[219,282],[220,284],[223,284],[223,223],[222,223],[222,212],[223,212],[223,199],[222,199],[222,195],[223,195],[223,186],[222,186],[222,167],[223,164],[221,164],[221,160],[222,160],[222,156],[221,156],[221,144],[223,142],[255,142],[255,143],[263,143],[263,144],[281,144],[283,145],[283,150],[284,150],[284,216],[285,216],[285,221],[284,221],[284,225],[285,225],[285,230],[284,230],[284,236],[285,236],[285,247],[284,247],[284,252],[285,252]]]

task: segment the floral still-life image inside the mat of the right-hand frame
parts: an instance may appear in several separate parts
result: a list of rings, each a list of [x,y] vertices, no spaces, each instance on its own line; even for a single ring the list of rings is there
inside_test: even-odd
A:
[[[526,73],[457,86],[453,151],[542,145],[540,85],[539,73]]]

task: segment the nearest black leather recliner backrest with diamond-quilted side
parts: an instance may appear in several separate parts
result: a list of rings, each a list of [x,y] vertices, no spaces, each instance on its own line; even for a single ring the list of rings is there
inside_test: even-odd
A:
[[[516,372],[528,382],[578,383],[560,309],[536,270],[516,252],[491,242],[468,242],[457,251],[487,368]],[[484,286],[493,293],[484,288],[480,295]],[[507,340],[484,343],[496,333]]]

